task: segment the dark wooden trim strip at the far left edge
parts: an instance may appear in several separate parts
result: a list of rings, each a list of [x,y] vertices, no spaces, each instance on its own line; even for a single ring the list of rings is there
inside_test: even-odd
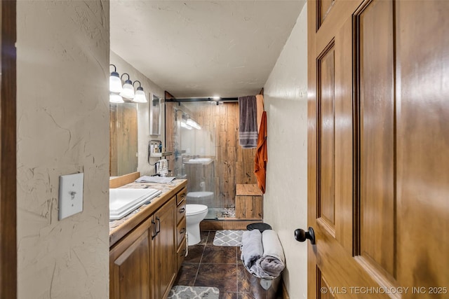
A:
[[[17,298],[16,1],[0,10],[0,298]]]

